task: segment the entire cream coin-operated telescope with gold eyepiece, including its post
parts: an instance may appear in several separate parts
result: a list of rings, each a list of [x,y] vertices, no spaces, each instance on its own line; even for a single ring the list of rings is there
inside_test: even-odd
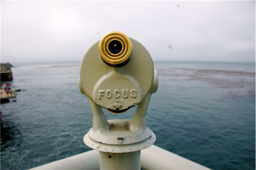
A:
[[[156,140],[146,111],[158,76],[146,48],[122,32],[109,32],[84,55],[79,81],[93,114],[84,143],[100,151],[100,168],[140,169],[140,150]],[[123,113],[136,105],[132,120],[107,120],[102,111]]]

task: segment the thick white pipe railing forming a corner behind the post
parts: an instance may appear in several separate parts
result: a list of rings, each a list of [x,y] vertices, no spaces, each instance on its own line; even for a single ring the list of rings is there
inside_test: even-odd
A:
[[[91,150],[72,157],[64,158],[58,161],[44,164],[33,170],[96,170],[100,169],[99,152]],[[113,157],[106,158],[106,161]],[[151,145],[141,150],[141,168],[144,170],[170,169],[170,170],[208,170],[191,160],[183,158],[172,152]],[[133,162],[131,162],[132,164]]]

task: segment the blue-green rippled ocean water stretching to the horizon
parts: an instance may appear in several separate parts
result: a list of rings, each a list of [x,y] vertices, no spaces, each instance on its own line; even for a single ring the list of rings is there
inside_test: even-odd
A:
[[[1,104],[1,169],[28,169],[90,150],[79,62],[12,68],[17,98]],[[217,170],[255,169],[255,63],[154,61],[147,125],[155,145]],[[131,119],[104,111],[107,119]],[[170,160],[171,161],[171,160]]]

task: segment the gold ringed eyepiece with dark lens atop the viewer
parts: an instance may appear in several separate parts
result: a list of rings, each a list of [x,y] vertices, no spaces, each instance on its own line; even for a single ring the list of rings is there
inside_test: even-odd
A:
[[[131,41],[124,33],[109,32],[99,43],[100,56],[110,66],[125,64],[131,55]]]

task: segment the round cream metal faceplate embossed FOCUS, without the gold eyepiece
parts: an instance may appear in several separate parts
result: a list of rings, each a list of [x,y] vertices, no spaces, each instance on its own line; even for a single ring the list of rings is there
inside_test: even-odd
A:
[[[99,41],[89,48],[81,61],[80,91],[103,108],[115,111],[117,108],[113,104],[119,100],[122,106],[118,110],[127,110],[139,104],[152,86],[153,61],[143,45],[135,39],[130,40],[132,53],[124,66],[111,67],[104,63]]]

